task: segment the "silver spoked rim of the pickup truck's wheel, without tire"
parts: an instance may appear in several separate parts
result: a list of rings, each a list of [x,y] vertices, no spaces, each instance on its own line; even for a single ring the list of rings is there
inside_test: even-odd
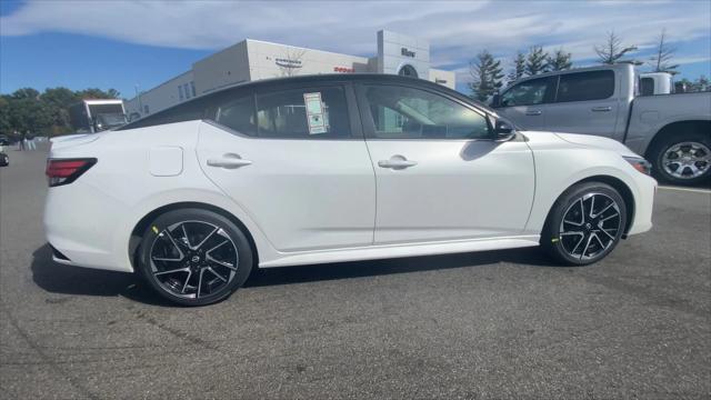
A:
[[[664,151],[661,167],[677,179],[698,178],[711,167],[711,150],[695,141],[675,143]]]

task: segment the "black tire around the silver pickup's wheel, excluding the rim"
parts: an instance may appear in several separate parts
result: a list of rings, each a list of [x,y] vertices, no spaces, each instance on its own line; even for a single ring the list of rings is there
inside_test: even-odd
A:
[[[690,128],[691,129],[691,128]],[[674,149],[677,144],[680,143],[698,143],[705,147],[707,150],[711,149],[711,133],[699,132],[699,131],[689,131],[689,132],[679,132],[677,134],[667,136],[662,138],[649,151],[649,159],[652,162],[652,169],[657,179],[671,183],[671,184],[699,184],[704,181],[711,180],[711,164],[709,162],[701,162],[701,166],[705,166],[705,170],[701,176],[691,177],[691,169],[684,169],[682,172],[678,172],[677,174],[681,174],[682,177],[674,176],[675,170],[670,170],[673,167],[669,167],[669,170],[664,168],[664,154],[670,150]],[[684,148],[685,149],[685,148]],[[699,148],[695,152],[704,152],[702,148]],[[710,151],[711,152],[711,151]],[[709,154],[711,156],[711,154]],[[688,178],[683,178],[684,174],[688,174]]]

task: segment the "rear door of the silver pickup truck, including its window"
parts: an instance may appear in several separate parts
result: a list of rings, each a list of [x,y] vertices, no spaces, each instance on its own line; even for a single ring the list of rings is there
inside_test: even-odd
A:
[[[615,93],[613,70],[570,72],[559,76],[558,90],[547,106],[547,129],[555,132],[584,133],[613,139],[622,108]]]

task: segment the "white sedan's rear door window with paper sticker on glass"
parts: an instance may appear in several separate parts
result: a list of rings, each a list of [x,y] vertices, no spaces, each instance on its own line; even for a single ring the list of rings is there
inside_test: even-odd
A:
[[[341,87],[284,90],[257,96],[259,137],[332,139],[351,136]]]

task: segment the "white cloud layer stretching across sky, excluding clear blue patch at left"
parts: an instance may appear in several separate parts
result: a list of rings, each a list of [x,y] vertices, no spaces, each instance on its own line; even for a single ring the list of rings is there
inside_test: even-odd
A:
[[[373,54],[384,28],[430,40],[434,64],[462,68],[483,48],[509,60],[533,44],[591,60],[612,30],[645,54],[662,27],[683,44],[709,38],[710,20],[709,1],[30,1],[0,19],[0,34],[70,32],[209,50],[252,38]],[[680,59],[710,57],[709,46],[680,47]]]

